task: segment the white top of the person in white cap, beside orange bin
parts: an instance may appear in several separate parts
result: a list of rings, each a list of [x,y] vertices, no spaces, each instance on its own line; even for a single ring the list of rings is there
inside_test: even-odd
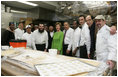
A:
[[[32,33],[29,34],[29,33],[25,32],[22,36],[22,39],[27,40],[27,47],[32,48]]]

